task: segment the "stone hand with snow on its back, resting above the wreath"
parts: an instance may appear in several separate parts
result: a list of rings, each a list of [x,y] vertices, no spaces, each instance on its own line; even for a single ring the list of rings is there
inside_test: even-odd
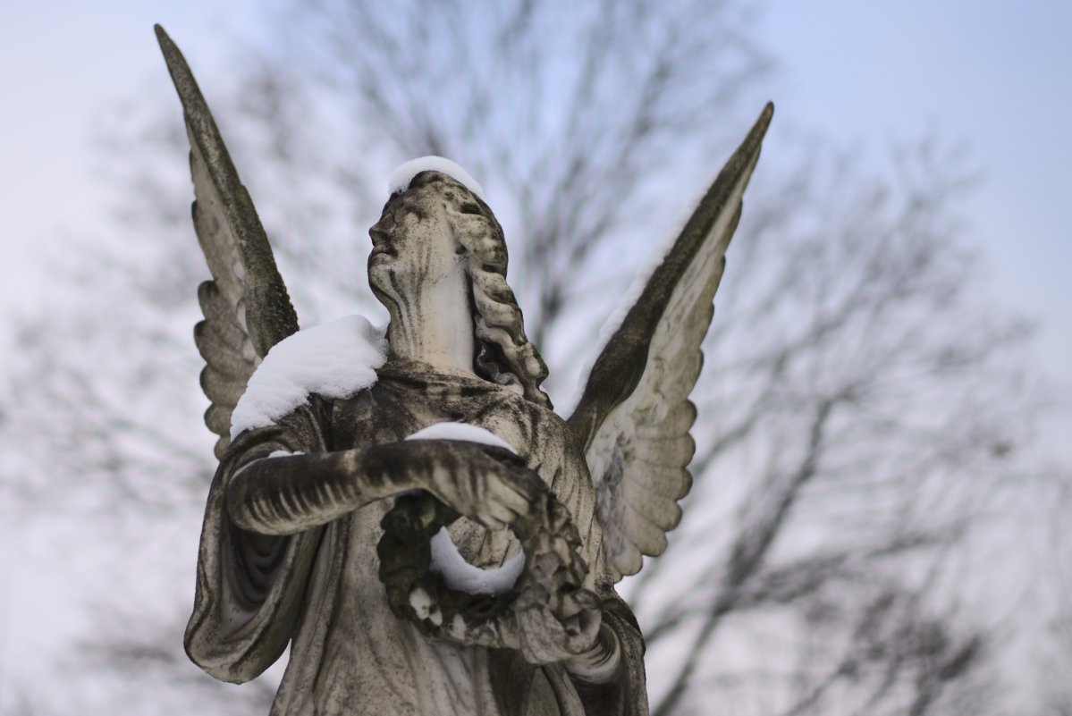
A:
[[[504,529],[547,491],[544,480],[509,450],[460,441],[425,441],[434,449],[418,487],[489,529]]]

